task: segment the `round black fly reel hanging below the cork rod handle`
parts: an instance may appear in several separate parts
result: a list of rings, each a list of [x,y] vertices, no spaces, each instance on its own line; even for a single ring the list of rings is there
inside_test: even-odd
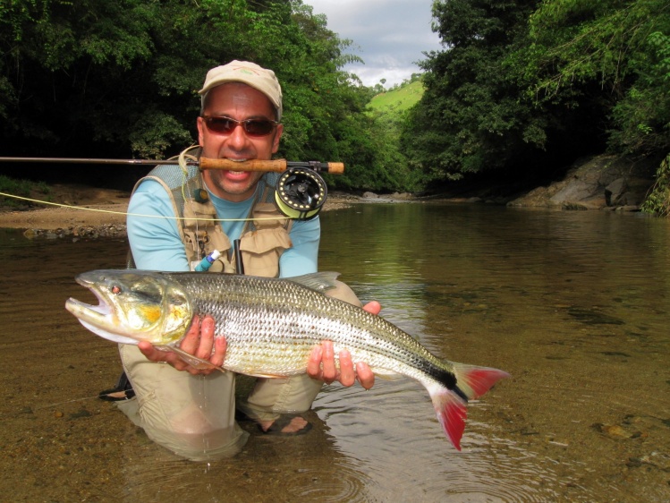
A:
[[[276,183],[275,204],[286,217],[311,220],[326,202],[328,189],[309,167],[290,167]]]

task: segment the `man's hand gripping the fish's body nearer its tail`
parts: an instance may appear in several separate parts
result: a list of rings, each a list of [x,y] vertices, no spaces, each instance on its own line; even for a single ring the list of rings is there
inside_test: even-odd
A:
[[[367,303],[363,306],[365,311],[371,314],[379,314],[381,305],[377,301]],[[310,355],[310,362],[307,365],[307,373],[313,379],[320,379],[330,384],[335,380],[343,386],[352,386],[356,379],[360,386],[365,389],[372,388],[375,384],[375,374],[365,362],[357,362],[355,367],[352,362],[352,355],[344,349],[339,354],[340,369],[335,367],[335,352],[331,341],[324,341],[318,347],[315,347]]]

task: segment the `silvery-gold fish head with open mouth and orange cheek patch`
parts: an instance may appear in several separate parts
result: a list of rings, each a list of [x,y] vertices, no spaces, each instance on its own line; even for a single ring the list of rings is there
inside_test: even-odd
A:
[[[85,272],[76,280],[98,297],[98,305],[71,298],[65,309],[100,337],[122,344],[169,345],[191,326],[190,297],[167,275],[109,269]]]

